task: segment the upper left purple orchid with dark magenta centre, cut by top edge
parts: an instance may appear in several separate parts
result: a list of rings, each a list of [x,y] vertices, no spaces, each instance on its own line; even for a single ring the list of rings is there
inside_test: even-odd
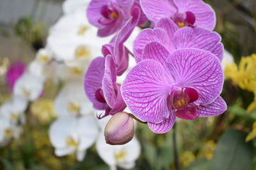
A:
[[[134,9],[139,12],[134,13]],[[147,20],[138,0],[92,0],[87,9],[87,18],[92,25],[99,28],[100,37],[119,31],[134,15],[140,15],[138,25]]]

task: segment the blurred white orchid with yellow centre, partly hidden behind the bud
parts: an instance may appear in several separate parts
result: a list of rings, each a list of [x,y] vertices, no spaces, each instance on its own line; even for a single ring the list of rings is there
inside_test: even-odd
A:
[[[135,136],[125,145],[108,145],[104,138],[104,131],[100,132],[96,148],[102,160],[109,165],[111,170],[115,170],[116,166],[131,169],[135,166],[135,160],[141,153],[140,143]]]

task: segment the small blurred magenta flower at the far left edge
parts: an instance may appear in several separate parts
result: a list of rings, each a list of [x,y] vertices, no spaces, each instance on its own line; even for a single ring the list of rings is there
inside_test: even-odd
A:
[[[12,90],[15,82],[20,78],[20,76],[22,76],[25,71],[26,65],[23,62],[13,62],[10,67],[8,67],[6,73],[6,81]]]

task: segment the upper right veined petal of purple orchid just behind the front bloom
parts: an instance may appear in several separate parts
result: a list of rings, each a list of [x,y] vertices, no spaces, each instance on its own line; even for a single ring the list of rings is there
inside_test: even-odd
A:
[[[203,28],[184,27],[174,34],[176,48],[200,48],[213,53],[219,60],[223,58],[221,36]]]

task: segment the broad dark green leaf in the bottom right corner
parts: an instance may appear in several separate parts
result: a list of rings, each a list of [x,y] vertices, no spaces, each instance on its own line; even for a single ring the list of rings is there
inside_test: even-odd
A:
[[[246,132],[228,129],[218,141],[211,162],[212,170],[251,169],[253,145],[246,143]]]

